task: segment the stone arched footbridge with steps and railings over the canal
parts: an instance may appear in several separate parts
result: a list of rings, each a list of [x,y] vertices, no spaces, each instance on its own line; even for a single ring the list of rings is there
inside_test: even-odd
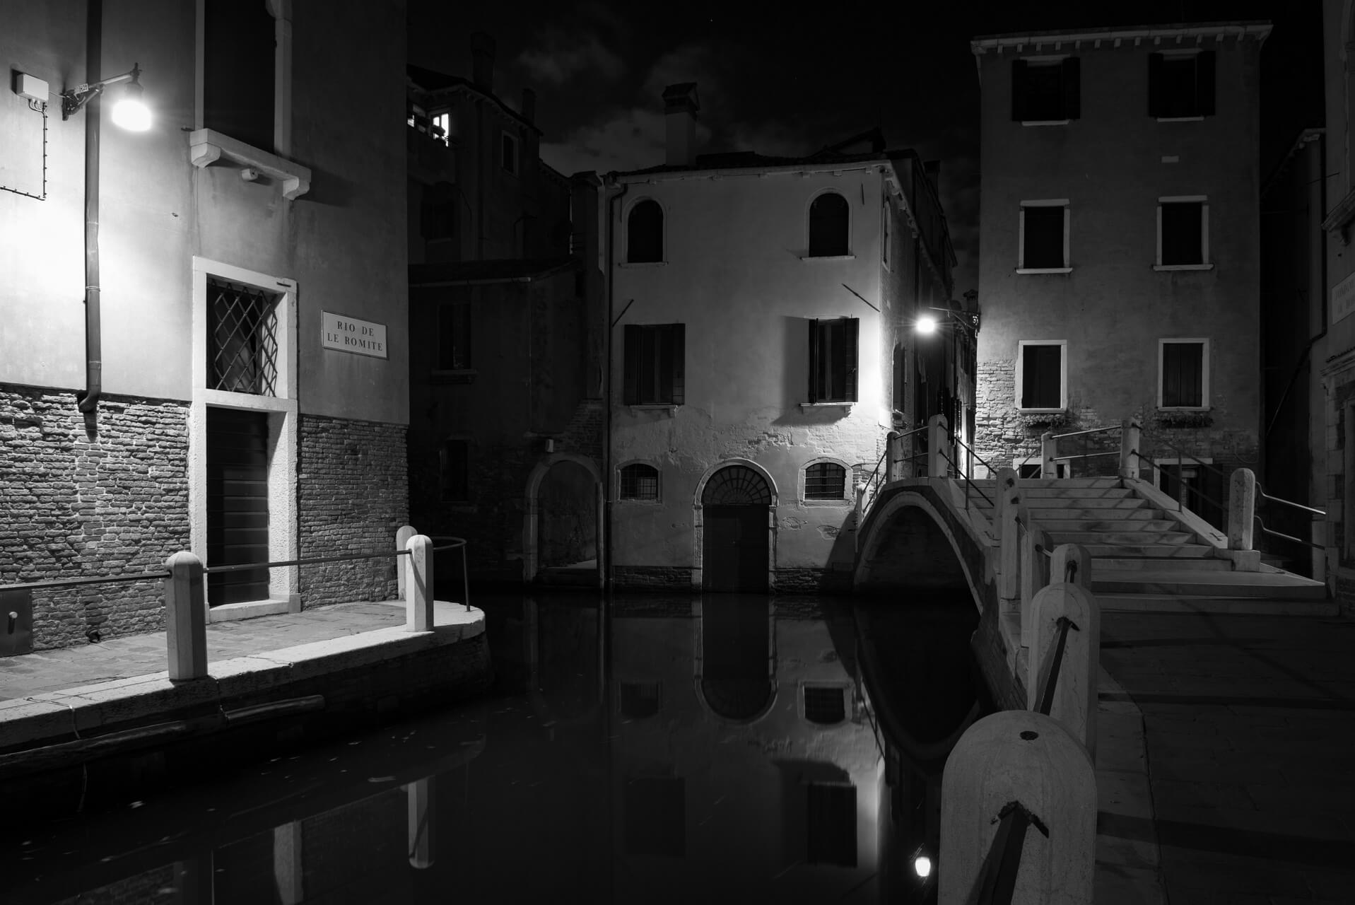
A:
[[[906,467],[889,458],[877,486],[858,488],[854,589],[967,589],[981,614],[974,652],[1004,706],[1027,706],[1028,608],[1060,545],[1081,547],[1103,610],[1335,612],[1322,581],[1266,565],[1251,549],[1255,480],[1245,469],[1233,477],[1225,534],[1140,480],[1123,466],[1117,477],[1018,478],[1001,469],[974,481],[896,477]],[[932,474],[953,470],[944,450],[930,458]]]

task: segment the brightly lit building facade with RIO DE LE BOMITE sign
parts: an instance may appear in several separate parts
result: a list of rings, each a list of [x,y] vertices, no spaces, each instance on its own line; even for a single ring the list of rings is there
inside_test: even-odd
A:
[[[0,576],[389,550],[408,520],[402,4],[8,7]],[[111,122],[127,80],[77,89],[134,69],[144,131]],[[64,115],[66,89],[93,99]],[[394,592],[390,560],[207,581],[213,619]],[[163,626],[159,581],[31,606],[38,648]]]

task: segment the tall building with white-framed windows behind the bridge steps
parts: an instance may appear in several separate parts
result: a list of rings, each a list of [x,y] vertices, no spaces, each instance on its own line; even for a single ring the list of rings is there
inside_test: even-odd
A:
[[[1137,417],[1154,462],[1188,463],[1168,489],[1215,520],[1207,500],[1222,500],[1226,473],[1259,467],[1268,34],[1268,23],[1210,23],[972,42],[977,443],[995,466],[1038,473],[1042,432]],[[1102,457],[1073,473],[1114,467]]]

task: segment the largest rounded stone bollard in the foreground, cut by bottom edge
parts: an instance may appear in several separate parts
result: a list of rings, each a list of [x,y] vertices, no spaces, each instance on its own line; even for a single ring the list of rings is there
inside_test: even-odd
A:
[[[1028,710],[1004,710],[970,726],[946,760],[940,905],[974,901],[974,886],[1003,828],[999,816],[1009,802],[1019,802],[1033,817],[1011,901],[1091,902],[1096,855],[1096,774],[1091,757],[1057,719]],[[995,862],[999,858],[1000,852],[992,855]]]

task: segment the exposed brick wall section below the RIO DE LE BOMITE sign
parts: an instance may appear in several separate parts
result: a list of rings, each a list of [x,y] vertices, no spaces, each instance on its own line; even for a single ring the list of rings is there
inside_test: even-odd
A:
[[[409,522],[405,434],[402,424],[301,417],[297,512],[302,557],[394,549],[396,531]],[[397,593],[394,560],[301,569],[306,607],[390,600]]]

